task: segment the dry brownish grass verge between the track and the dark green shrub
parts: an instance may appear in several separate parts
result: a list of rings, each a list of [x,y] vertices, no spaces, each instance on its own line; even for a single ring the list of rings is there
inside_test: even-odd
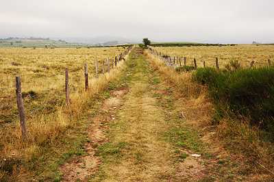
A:
[[[161,60],[158,60],[153,55],[147,54],[153,67],[157,69],[160,75],[163,75],[166,83],[170,83],[177,92],[178,97],[175,103],[181,105],[181,107],[175,104],[175,108],[182,109],[177,111],[177,116],[179,116],[179,112],[183,111],[187,119],[186,125],[194,127],[195,132],[198,133],[203,144],[206,144],[203,145],[203,156],[206,158],[216,156],[216,164],[219,166],[217,166],[215,170],[218,171],[216,174],[219,174],[221,178],[219,181],[272,181],[274,177],[272,165],[273,143],[267,139],[269,138],[269,136],[266,136],[267,132],[261,131],[258,127],[252,127],[247,120],[234,118],[225,111],[223,111],[225,117],[219,119],[219,122],[214,122],[216,118],[212,118],[212,116],[214,116],[214,110],[218,105],[213,105],[214,102],[208,93],[214,92],[215,95],[220,95],[230,92],[221,92],[218,90],[218,92],[221,92],[218,93],[216,90],[210,90],[211,88],[208,88],[208,86],[203,86],[201,82],[192,82],[192,73],[184,70],[175,71],[173,68],[164,66]],[[252,71],[253,70],[250,70],[250,72]],[[212,70],[212,72],[214,71]],[[199,70],[197,70],[197,74],[198,73]],[[243,75],[243,73],[241,74]],[[212,83],[215,84],[214,87],[216,85],[220,87],[221,73],[219,73],[219,77],[212,75],[214,74],[203,74],[202,78],[204,80],[202,82],[212,81]],[[264,74],[262,73],[262,75]],[[238,75],[235,75],[234,79],[229,77],[229,83],[236,85],[236,78],[238,78]],[[250,78],[251,77],[247,79]],[[257,79],[257,77],[252,78],[257,81],[260,80],[259,78]],[[220,82],[214,82],[216,79],[220,79]],[[227,86],[226,83],[223,83],[223,85]],[[262,89],[265,89],[265,86]],[[242,92],[243,90],[238,89],[238,91]],[[266,92],[264,92],[264,94],[266,94]],[[227,97],[227,95],[224,96],[225,99],[227,99]],[[262,96],[260,99],[266,98],[267,97]],[[178,132],[177,129],[176,127],[173,133],[175,139],[177,140],[177,138],[180,137],[186,138],[184,135],[186,131],[182,130],[183,134],[178,135],[176,133]],[[177,146],[189,147],[188,142],[176,141],[175,145],[176,144]],[[206,148],[208,148],[208,150],[206,150]]]

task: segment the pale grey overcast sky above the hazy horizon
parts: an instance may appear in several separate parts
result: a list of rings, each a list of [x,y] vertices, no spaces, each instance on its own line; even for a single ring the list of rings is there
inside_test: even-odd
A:
[[[274,0],[0,0],[0,38],[274,42]]]

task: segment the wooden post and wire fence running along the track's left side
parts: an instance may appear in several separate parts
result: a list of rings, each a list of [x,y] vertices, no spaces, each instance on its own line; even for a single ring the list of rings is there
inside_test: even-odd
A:
[[[132,47],[133,47],[133,46],[132,46]],[[117,65],[116,65],[116,60],[117,60],[117,62],[121,61],[121,60],[125,57],[125,55],[127,55],[127,54],[129,53],[129,51],[132,49],[132,47],[129,47],[129,48],[127,49],[127,51],[125,51],[125,53],[121,53],[121,54],[119,55],[119,59],[116,59],[116,57],[115,57],[115,66],[117,66]],[[110,73],[110,62],[109,62],[109,58],[107,59],[107,62],[108,62],[108,73]],[[112,69],[113,69],[113,62],[114,62],[114,60],[112,60]],[[79,81],[82,81],[83,79],[85,79],[85,83],[88,83],[88,71],[87,71],[86,65],[87,65],[87,64],[85,64],[84,67],[79,67],[79,68],[76,68],[76,69],[71,70],[71,71],[69,71],[68,68],[66,68],[65,73],[60,73],[60,74],[58,74],[58,75],[64,75],[64,74],[65,74],[65,76],[67,77],[67,78],[65,79],[65,82],[68,84],[68,88],[67,88],[66,93],[62,94],[61,96],[58,96],[57,98],[53,99],[52,101],[49,101],[49,103],[43,105],[42,107],[39,107],[39,108],[36,109],[34,112],[31,112],[31,113],[27,114],[27,116],[25,116],[25,109],[23,109],[23,101],[26,101],[26,100],[28,100],[28,99],[32,99],[32,98],[34,98],[34,97],[36,97],[36,96],[38,96],[38,95],[40,95],[40,94],[43,94],[43,93],[45,93],[45,92],[50,91],[50,90],[55,90],[55,88],[58,88],[58,87],[60,87],[60,86],[64,86],[64,85],[66,85],[66,83],[65,83],[65,84],[62,83],[62,84],[60,84],[59,86],[55,86],[55,87],[50,88],[50,89],[48,89],[48,90],[45,90],[45,91],[43,91],[43,92],[41,92],[41,93],[39,93],[39,94],[36,94],[36,95],[34,95],[34,96],[30,96],[29,98],[24,99],[24,100],[23,100],[22,94],[21,94],[21,86],[26,85],[26,84],[29,84],[29,83],[35,83],[35,82],[37,82],[37,81],[41,81],[41,80],[44,80],[44,79],[49,79],[49,78],[51,78],[51,77],[56,77],[56,76],[58,76],[58,75],[53,75],[53,76],[46,77],[46,78],[43,78],[43,79],[38,79],[38,80],[36,80],[36,81],[29,81],[29,82],[23,83],[23,84],[21,84],[21,77],[20,77],[20,76],[16,76],[16,80],[18,80],[18,82],[16,81],[16,86],[11,86],[11,87],[6,87],[6,88],[0,88],[0,90],[7,89],[7,88],[14,88],[14,87],[16,87],[16,93],[18,92],[18,93],[17,93],[17,96],[16,96],[16,98],[17,98],[17,102],[16,102],[16,103],[18,104],[18,112],[19,112],[19,118],[20,118],[19,120],[25,120],[25,118],[27,118],[28,116],[30,116],[30,115],[32,115],[32,114],[38,112],[40,109],[46,107],[47,105],[53,103],[54,101],[56,101],[56,100],[58,100],[58,99],[60,99],[60,98],[61,98],[62,96],[64,96],[64,95],[68,96],[68,99],[69,99],[69,94],[68,94],[69,91],[73,91],[73,90],[75,90],[75,89],[77,89],[77,88],[79,88],[80,86],[83,85],[83,83],[80,83],[79,85],[75,86],[74,88],[69,89],[69,73],[72,73],[72,72],[74,72],[74,71],[76,71],[76,70],[80,70],[80,69],[82,69],[82,68],[85,68],[85,71],[84,71],[84,78],[80,79],[80,77],[82,77],[82,75],[79,75],[79,76],[75,77],[74,79],[71,79],[70,81],[75,81],[76,79],[79,79],[79,80],[77,80],[77,82],[79,82]],[[97,65],[97,60],[96,60],[96,70],[97,70],[97,71],[96,71],[96,75],[95,75],[95,76],[96,76],[96,78],[98,79],[98,75],[102,75],[102,74],[104,74],[104,72],[103,72],[103,73],[98,73],[98,67],[97,67],[97,66],[98,66],[98,65]],[[103,69],[104,69],[104,67],[103,67]],[[103,71],[103,70],[102,70],[102,71]],[[89,73],[93,73],[93,72],[89,72]],[[95,76],[92,76],[92,77],[95,77]],[[86,90],[88,90],[88,87],[87,87],[87,86],[86,86]],[[21,97],[21,101],[20,101],[20,97]],[[10,104],[10,105],[15,105],[16,103],[12,103],[12,104]],[[67,102],[67,103],[68,103],[68,102]],[[4,108],[4,107],[8,107],[8,106],[10,106],[10,105],[5,105],[5,106],[3,106],[3,107],[0,107],[0,109],[2,109],[2,108]],[[19,105],[20,105],[20,106],[19,106]],[[69,105],[69,104],[68,104],[68,105]],[[21,110],[19,109],[19,107],[21,107]],[[21,112],[23,112],[23,116],[22,116],[23,118],[21,118],[21,114],[20,114]],[[15,122],[17,122],[17,121],[19,121],[19,120],[14,120],[13,122],[8,123],[8,125],[5,125],[5,126],[0,127],[0,129],[3,129],[3,128],[5,128],[5,127],[8,127],[8,126],[12,125],[13,123],[15,123]],[[23,123],[22,123],[22,121],[21,121],[22,135],[23,135],[23,138],[26,138],[26,137],[27,137],[27,127],[26,127],[26,125],[24,126],[24,125],[22,125],[22,124],[23,124]]]

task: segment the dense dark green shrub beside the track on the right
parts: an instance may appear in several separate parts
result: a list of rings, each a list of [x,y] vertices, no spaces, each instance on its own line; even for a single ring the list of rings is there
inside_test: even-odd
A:
[[[220,116],[228,112],[274,134],[273,67],[230,72],[199,68],[193,79],[208,85]]]

